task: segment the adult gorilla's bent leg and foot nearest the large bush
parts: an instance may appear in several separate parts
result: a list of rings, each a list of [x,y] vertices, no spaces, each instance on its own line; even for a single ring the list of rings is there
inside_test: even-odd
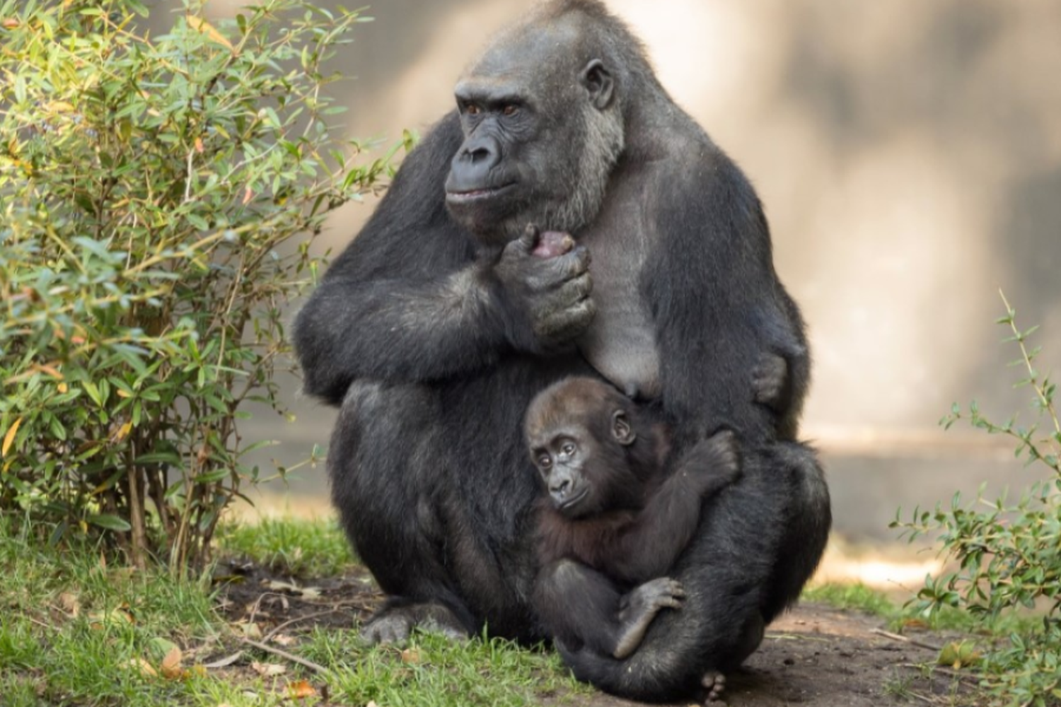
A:
[[[398,642],[420,626],[450,636],[476,629],[443,564],[438,517],[446,459],[437,454],[438,403],[430,388],[354,383],[328,453],[332,501],[358,554],[387,595],[362,628]]]

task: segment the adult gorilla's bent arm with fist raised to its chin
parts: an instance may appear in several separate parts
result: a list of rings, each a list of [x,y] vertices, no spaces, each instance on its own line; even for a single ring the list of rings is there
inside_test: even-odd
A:
[[[586,249],[537,258],[528,232],[484,252],[449,217],[441,184],[462,139],[453,116],[432,129],[298,314],[308,393],[338,405],[360,377],[433,381],[546,353],[592,316]]]

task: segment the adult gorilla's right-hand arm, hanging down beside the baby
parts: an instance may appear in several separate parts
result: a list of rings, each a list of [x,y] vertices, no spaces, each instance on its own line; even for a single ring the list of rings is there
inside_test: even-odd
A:
[[[759,198],[721,152],[661,190],[646,264],[662,402],[680,421],[676,448],[721,427],[746,441],[792,438],[807,386],[802,321],[773,270]],[[758,404],[761,363],[787,364],[783,409]]]

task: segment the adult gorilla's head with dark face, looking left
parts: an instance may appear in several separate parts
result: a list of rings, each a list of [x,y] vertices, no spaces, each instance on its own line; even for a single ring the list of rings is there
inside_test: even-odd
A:
[[[599,209],[623,122],[607,68],[582,43],[572,23],[530,25],[457,83],[465,141],[446,204],[484,243],[507,243],[527,224],[574,233]]]

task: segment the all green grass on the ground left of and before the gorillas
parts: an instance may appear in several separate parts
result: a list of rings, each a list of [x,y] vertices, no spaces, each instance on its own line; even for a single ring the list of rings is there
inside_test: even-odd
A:
[[[237,629],[215,612],[205,581],[160,570],[131,571],[99,548],[49,548],[20,524],[0,515],[0,703],[4,707],[314,706],[292,701],[291,682],[327,685],[332,704],[467,707],[560,703],[590,691],[576,684],[552,652],[502,640],[449,642],[421,635],[402,652],[367,649],[354,632],[306,625],[285,631],[285,651],[328,669],[317,675],[283,658],[240,643]],[[39,531],[39,532],[38,532]],[[282,538],[288,538],[286,541]],[[299,543],[297,554],[285,542]],[[226,529],[226,551],[292,563],[299,571],[348,566],[342,534],[328,522],[271,520]],[[338,558],[338,559],[336,559]],[[160,668],[166,647],[181,649],[176,679],[144,674],[141,661]],[[160,650],[160,646],[163,650]],[[231,668],[196,665],[246,649]],[[259,677],[251,660],[281,664],[286,673]]]

